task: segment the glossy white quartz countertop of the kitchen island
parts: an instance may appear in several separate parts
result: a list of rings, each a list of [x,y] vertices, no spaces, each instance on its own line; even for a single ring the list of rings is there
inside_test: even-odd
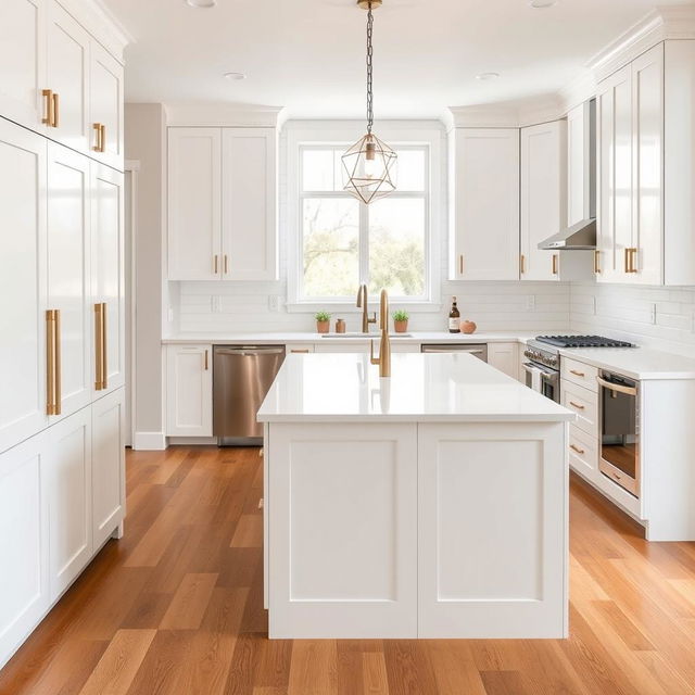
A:
[[[289,355],[261,422],[548,422],[574,414],[468,354],[392,354],[380,379],[368,355]]]

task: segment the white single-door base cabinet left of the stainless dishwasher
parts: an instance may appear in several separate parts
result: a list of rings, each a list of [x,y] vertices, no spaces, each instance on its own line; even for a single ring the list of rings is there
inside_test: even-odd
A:
[[[212,345],[168,346],[167,437],[212,437]]]

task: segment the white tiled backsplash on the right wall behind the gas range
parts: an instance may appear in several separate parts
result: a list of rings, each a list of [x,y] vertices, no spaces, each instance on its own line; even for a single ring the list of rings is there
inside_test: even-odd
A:
[[[570,325],[695,357],[695,288],[572,283]]]

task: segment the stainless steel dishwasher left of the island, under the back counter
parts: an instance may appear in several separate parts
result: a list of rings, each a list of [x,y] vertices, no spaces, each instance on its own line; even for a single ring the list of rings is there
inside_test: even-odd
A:
[[[262,444],[256,413],[283,361],[285,345],[213,349],[213,435],[220,446]]]

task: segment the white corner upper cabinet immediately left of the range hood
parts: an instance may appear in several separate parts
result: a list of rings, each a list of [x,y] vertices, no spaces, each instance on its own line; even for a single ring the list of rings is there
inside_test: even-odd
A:
[[[539,243],[558,233],[567,219],[567,122],[521,128],[522,280],[559,280],[560,254]]]

